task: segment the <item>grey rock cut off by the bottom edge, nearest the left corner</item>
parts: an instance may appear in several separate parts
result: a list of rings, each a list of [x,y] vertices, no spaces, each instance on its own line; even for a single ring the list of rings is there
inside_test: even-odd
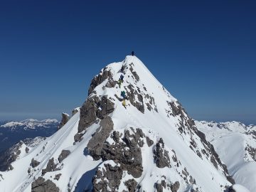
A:
[[[59,192],[60,189],[53,181],[38,177],[31,185],[31,192]]]

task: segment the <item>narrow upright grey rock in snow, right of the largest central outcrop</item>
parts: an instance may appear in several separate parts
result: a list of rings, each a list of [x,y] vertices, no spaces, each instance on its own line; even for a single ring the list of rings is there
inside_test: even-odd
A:
[[[156,148],[154,149],[154,161],[159,168],[164,168],[166,166],[171,167],[169,153],[164,149],[164,141],[162,138],[156,143]]]

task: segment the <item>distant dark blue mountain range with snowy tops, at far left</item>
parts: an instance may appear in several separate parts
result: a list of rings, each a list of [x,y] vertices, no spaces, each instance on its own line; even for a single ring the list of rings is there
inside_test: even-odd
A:
[[[57,119],[0,122],[0,154],[20,140],[49,137],[57,131],[58,124]]]

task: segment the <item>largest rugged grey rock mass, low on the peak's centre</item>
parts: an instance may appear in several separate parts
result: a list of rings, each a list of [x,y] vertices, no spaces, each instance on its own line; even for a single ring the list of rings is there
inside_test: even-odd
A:
[[[107,191],[107,188],[111,188],[112,191],[118,191],[123,171],[127,171],[134,178],[142,176],[143,171],[141,147],[144,145],[142,138],[145,135],[142,129],[136,129],[136,131],[132,129],[132,134],[129,130],[125,131],[124,134],[114,131],[110,137],[115,143],[110,144],[104,140],[110,135],[112,122],[110,120],[106,120],[106,122],[107,127],[101,124],[102,128],[100,132],[102,134],[97,132],[90,140],[91,144],[89,142],[87,148],[94,159],[100,159],[101,157],[103,161],[112,160],[118,165],[111,166],[110,164],[104,164],[102,169],[97,170],[93,179],[93,191]],[[106,132],[107,134],[103,134]],[[107,137],[99,138],[100,135],[106,135]],[[98,142],[99,145],[95,146],[95,142],[99,141],[98,139],[100,139],[100,142]],[[101,144],[102,146],[100,146]],[[129,191],[135,191],[137,182],[129,180],[125,182],[125,186],[127,186]]]

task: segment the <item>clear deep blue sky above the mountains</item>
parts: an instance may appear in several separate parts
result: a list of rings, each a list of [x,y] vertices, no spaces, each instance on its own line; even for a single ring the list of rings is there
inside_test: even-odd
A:
[[[256,124],[253,1],[1,1],[0,120],[58,118],[134,50],[195,119]]]

